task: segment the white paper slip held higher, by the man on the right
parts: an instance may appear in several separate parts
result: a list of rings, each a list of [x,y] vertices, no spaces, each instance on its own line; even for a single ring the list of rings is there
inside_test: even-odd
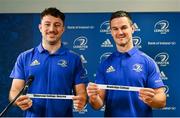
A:
[[[118,86],[118,85],[104,85],[97,84],[100,89],[107,90],[121,90],[121,91],[139,91],[142,87],[133,87],[133,86]]]

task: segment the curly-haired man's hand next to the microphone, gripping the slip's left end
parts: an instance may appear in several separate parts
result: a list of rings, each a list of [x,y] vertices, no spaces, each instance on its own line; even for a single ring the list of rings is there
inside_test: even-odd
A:
[[[15,101],[15,104],[18,107],[20,107],[22,110],[27,110],[28,108],[32,106],[32,100],[26,95],[21,95]]]

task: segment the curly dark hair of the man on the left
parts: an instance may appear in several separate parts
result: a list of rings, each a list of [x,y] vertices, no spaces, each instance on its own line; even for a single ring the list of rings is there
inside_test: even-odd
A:
[[[65,21],[64,13],[62,13],[60,10],[58,10],[57,8],[54,8],[54,7],[46,8],[43,12],[41,12],[41,19],[46,15],[58,17],[63,21],[63,23]]]

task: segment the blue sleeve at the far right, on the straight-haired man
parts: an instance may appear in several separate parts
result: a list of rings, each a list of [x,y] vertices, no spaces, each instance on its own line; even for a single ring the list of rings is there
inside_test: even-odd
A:
[[[150,88],[159,88],[164,86],[164,83],[160,76],[159,68],[153,59],[150,59],[148,62],[147,80],[147,86]]]

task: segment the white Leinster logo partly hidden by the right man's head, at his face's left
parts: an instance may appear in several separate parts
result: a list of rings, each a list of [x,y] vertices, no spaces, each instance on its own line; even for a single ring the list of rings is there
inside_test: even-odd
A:
[[[111,34],[109,21],[104,21],[103,23],[101,23],[100,32],[106,33],[106,34]]]

